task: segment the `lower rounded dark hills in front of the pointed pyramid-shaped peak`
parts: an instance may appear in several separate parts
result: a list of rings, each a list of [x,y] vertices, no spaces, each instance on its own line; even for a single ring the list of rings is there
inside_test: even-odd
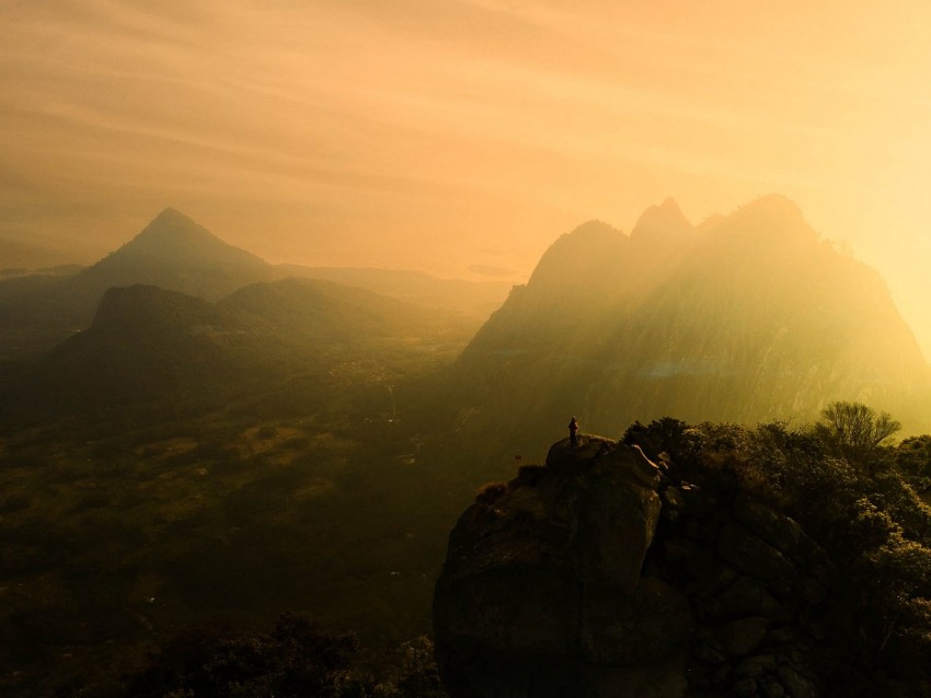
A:
[[[425,309],[329,281],[253,283],[216,303],[154,286],[114,287],[88,329],[19,369],[3,402],[13,419],[147,403],[203,409],[296,376],[338,391],[337,368],[365,362],[372,374],[390,373],[435,353],[450,331]],[[306,392],[311,399],[314,391]]]

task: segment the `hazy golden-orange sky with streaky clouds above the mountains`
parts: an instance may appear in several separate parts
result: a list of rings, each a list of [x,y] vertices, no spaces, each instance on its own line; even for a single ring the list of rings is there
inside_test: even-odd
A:
[[[171,206],[269,261],[519,282],[586,220],[778,193],[931,358],[927,0],[0,0],[0,37],[7,263]]]

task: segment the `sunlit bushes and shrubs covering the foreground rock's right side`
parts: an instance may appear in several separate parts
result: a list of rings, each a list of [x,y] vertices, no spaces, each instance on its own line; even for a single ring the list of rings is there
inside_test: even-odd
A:
[[[851,627],[846,664],[824,695],[897,695],[903,686],[931,695],[931,508],[909,484],[922,473],[929,439],[882,445],[895,424],[838,403],[815,426],[690,427],[666,418],[624,434],[653,457],[668,454],[674,478],[749,495],[828,552],[839,570],[832,593]]]

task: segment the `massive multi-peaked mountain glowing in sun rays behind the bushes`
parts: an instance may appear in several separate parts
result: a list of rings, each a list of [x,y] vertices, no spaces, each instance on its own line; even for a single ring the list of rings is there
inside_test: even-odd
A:
[[[600,222],[563,235],[455,380],[463,438],[520,434],[515,453],[573,414],[599,433],[664,415],[814,419],[836,399],[907,429],[931,417],[928,364],[883,280],[780,196],[699,229],[668,200],[630,236]]]

